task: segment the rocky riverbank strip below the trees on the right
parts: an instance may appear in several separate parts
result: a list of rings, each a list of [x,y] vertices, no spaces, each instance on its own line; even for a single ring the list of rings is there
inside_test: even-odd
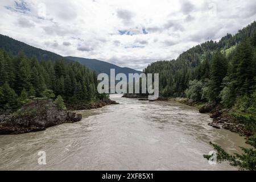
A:
[[[246,137],[252,135],[251,131],[247,130],[245,125],[239,123],[235,118],[232,117],[229,109],[225,109],[220,104],[196,102],[188,100],[187,98],[171,98],[171,100],[196,107],[199,109],[200,113],[209,113],[210,118],[213,119],[212,122],[208,123],[209,126],[216,129],[230,130]]]

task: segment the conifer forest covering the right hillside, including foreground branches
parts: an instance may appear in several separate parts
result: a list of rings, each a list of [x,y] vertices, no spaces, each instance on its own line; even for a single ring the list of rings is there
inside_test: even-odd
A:
[[[256,22],[236,35],[227,34],[219,42],[210,40],[195,46],[176,60],[152,63],[144,72],[159,73],[163,97],[214,103],[226,109],[235,121],[245,124],[254,135],[247,140],[254,150],[242,148],[244,154],[229,155],[211,144],[218,152],[218,161],[256,169]]]

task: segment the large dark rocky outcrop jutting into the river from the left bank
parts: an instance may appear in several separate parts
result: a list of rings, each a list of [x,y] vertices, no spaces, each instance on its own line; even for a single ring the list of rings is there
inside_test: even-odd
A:
[[[47,127],[81,119],[82,115],[59,109],[52,101],[32,101],[13,114],[0,116],[0,135],[41,131]]]

